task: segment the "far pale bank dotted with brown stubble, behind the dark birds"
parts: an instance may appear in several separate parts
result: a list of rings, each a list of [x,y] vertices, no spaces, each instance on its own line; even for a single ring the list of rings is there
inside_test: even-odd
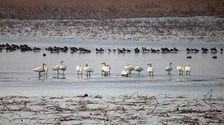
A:
[[[75,40],[220,42],[224,19],[164,17],[113,20],[0,20],[0,37]]]

